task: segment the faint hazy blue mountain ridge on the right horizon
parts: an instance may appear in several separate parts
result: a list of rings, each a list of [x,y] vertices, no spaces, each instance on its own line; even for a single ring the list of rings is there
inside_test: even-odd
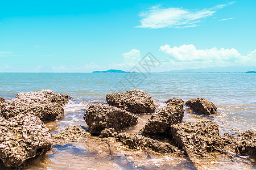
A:
[[[248,70],[256,70],[256,66],[208,67],[201,69],[171,70],[162,73],[245,73]]]

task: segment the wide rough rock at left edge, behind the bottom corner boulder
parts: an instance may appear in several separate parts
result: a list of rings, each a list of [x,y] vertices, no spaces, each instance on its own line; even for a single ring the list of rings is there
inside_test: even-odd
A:
[[[10,118],[21,113],[30,113],[44,122],[57,120],[64,117],[63,106],[68,99],[68,95],[56,94],[52,90],[20,92],[2,108],[1,115]]]

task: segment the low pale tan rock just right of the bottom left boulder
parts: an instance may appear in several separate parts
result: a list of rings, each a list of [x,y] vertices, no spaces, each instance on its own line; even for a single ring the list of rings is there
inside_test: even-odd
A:
[[[59,145],[60,143],[84,141],[88,137],[90,134],[81,126],[72,125],[60,133],[53,134],[52,140],[54,145]]]

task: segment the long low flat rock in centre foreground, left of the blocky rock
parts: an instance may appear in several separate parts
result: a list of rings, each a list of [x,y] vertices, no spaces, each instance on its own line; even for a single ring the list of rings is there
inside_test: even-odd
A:
[[[115,137],[123,145],[127,145],[129,148],[135,150],[146,150],[150,148],[152,151],[159,153],[179,152],[178,148],[170,145],[170,143],[156,141],[139,134],[119,133]]]

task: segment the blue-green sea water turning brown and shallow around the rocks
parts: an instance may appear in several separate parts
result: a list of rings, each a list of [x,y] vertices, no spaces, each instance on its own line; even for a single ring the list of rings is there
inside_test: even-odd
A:
[[[186,108],[183,120],[213,120],[219,125],[221,134],[225,132],[232,134],[248,129],[256,130],[256,74],[147,73],[135,76],[127,73],[0,73],[0,96],[5,97],[6,100],[15,97],[19,92],[43,89],[51,89],[73,97],[65,106],[65,118],[47,124],[52,133],[57,133],[69,125],[86,126],[82,119],[85,112],[84,101],[105,102],[107,93],[123,92],[134,88],[148,92],[162,107],[163,101],[172,97],[185,101],[193,97],[204,97],[212,101],[218,109],[217,115],[200,116],[189,112],[189,108]],[[124,131],[138,132],[149,117],[150,115],[139,116],[139,124]],[[151,156],[142,163],[136,156],[129,160],[123,157],[125,154],[121,153],[114,156],[92,154],[87,151],[88,147],[84,148],[81,144],[53,146],[54,153],[32,159],[29,169],[194,168],[184,159]],[[216,166],[221,169],[228,167],[239,169],[239,165],[240,163],[234,161],[225,161]],[[246,162],[246,165],[247,168],[255,168],[255,163]]]

